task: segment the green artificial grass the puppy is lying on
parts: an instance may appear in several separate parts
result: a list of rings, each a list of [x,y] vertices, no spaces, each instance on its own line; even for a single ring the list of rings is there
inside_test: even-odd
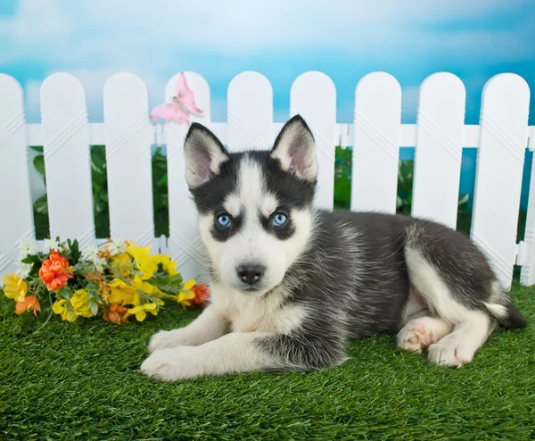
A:
[[[531,322],[499,330],[459,370],[395,348],[393,336],[349,346],[341,367],[175,384],[139,365],[158,329],[199,313],[169,306],[115,326],[15,316],[0,299],[0,439],[532,439],[535,288],[512,295]]]

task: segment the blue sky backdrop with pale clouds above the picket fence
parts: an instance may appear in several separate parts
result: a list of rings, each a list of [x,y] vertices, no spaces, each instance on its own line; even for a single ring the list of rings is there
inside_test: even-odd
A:
[[[518,73],[535,91],[535,1],[0,0],[0,71],[24,87],[29,122],[39,121],[39,87],[56,71],[84,83],[90,121],[103,120],[103,85],[117,71],[144,79],[151,105],[178,71],[202,74],[213,121],[226,121],[226,88],[242,71],[271,81],[276,121],[288,117],[292,81],[323,71],[339,122],[352,121],[355,87],[370,71],[399,80],[404,122],[416,121],[422,81],[450,71],[465,82],[466,123],[477,124],[493,75]]]

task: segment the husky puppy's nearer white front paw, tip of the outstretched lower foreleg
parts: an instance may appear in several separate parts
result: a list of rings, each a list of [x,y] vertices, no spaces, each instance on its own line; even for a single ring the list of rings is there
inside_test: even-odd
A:
[[[161,349],[149,356],[141,365],[141,371],[148,377],[161,381],[194,379],[205,374],[202,362],[196,354],[196,347],[180,346]]]

